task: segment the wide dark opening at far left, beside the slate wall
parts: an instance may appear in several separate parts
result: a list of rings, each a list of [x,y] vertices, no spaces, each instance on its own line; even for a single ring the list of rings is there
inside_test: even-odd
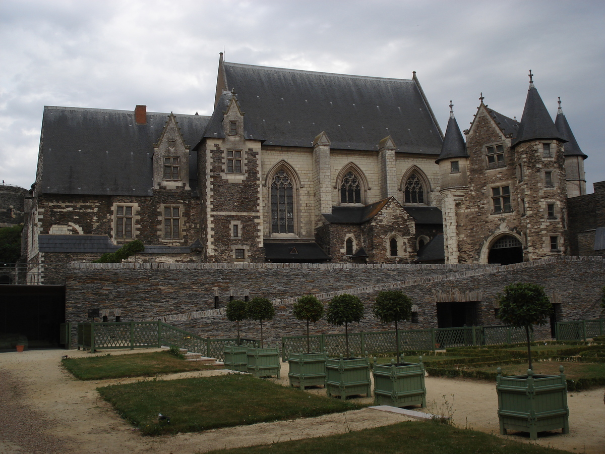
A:
[[[64,286],[2,286],[0,350],[13,350],[17,341],[28,349],[57,348],[64,322]]]

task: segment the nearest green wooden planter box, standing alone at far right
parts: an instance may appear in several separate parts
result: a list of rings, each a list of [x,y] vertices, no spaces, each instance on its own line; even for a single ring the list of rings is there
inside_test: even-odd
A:
[[[569,409],[567,408],[567,383],[563,366],[560,375],[528,375],[502,377],[498,368],[496,391],[498,393],[498,418],[500,433],[506,430],[529,432],[529,438],[538,438],[543,430],[562,429],[569,433]]]

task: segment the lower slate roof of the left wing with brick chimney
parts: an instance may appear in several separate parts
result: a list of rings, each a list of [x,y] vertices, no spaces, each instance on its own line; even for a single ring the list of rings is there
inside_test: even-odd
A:
[[[175,115],[186,145],[195,145],[209,117]],[[42,181],[47,194],[150,196],[153,144],[168,120],[147,113],[137,125],[134,111],[44,107]],[[197,188],[197,153],[189,156],[192,191]]]

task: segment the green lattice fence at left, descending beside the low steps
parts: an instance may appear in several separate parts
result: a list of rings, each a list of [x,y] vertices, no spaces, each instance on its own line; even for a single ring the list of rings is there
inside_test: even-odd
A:
[[[62,327],[62,331],[65,327]],[[224,360],[224,347],[237,338],[201,337],[162,321],[116,321],[77,324],[77,346],[87,350],[160,348],[175,346],[209,358]],[[240,338],[241,344],[255,339]]]

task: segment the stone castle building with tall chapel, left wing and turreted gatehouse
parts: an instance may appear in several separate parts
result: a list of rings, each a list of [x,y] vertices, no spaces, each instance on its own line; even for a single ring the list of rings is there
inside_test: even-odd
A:
[[[420,83],[235,64],[211,116],[45,107],[30,263],[515,263],[568,254],[581,151],[530,81],[445,136]]]

